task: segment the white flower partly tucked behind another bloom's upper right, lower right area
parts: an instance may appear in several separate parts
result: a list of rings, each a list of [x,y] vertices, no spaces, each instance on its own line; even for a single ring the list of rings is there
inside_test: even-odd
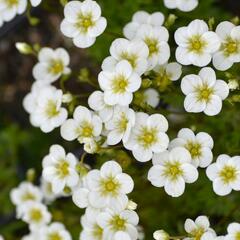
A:
[[[213,144],[213,139],[209,134],[199,132],[195,135],[191,129],[182,128],[177,138],[170,142],[169,148],[186,148],[191,154],[191,163],[195,167],[205,168],[213,160]]]

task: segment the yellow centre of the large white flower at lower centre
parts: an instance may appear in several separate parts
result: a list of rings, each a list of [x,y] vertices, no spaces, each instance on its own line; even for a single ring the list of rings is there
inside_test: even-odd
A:
[[[113,177],[103,179],[100,183],[102,195],[115,196],[120,188],[119,182]]]

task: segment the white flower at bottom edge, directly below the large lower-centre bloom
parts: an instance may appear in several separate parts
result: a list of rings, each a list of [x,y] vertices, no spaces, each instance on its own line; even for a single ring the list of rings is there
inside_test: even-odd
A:
[[[131,210],[107,209],[97,216],[97,222],[103,229],[103,240],[136,240],[139,218]]]

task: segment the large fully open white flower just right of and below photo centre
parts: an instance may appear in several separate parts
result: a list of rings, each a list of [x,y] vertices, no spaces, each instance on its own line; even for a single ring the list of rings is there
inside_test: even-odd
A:
[[[147,162],[152,158],[153,153],[160,153],[167,149],[169,143],[169,138],[165,133],[167,129],[168,122],[163,115],[149,116],[138,112],[135,126],[124,146],[132,151],[138,161]]]

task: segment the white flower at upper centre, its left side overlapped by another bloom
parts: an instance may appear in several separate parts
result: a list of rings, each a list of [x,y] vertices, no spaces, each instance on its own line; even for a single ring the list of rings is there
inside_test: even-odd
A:
[[[148,68],[153,69],[157,64],[164,64],[170,58],[170,48],[168,45],[169,33],[165,27],[154,28],[149,25],[142,25],[136,38],[145,42],[148,46]]]

